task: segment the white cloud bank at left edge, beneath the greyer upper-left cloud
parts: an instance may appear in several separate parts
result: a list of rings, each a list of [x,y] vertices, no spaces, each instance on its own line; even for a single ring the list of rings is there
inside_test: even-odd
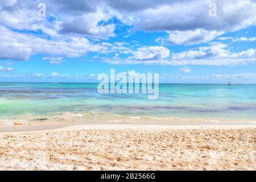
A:
[[[40,38],[33,34],[22,34],[0,26],[0,59],[28,60],[31,55],[65,55],[80,57],[87,52],[100,51],[102,46],[91,44],[81,37],[63,37],[53,40]]]

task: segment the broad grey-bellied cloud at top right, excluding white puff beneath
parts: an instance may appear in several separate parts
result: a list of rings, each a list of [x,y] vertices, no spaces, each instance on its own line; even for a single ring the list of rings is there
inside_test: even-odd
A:
[[[216,17],[208,15],[209,3],[208,1],[150,2],[148,6],[151,7],[130,11],[127,16],[134,17],[131,22],[136,28],[149,31],[187,31],[197,28],[207,31],[236,31],[255,24],[254,1],[216,0],[214,1],[217,5]]]

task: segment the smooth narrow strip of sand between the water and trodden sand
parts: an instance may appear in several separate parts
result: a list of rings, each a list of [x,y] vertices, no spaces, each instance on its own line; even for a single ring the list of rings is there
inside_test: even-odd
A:
[[[77,130],[189,130],[189,129],[248,129],[256,128],[255,124],[127,124],[127,123],[34,123],[30,125],[2,125],[0,127],[0,135],[15,133],[44,133],[55,131],[77,131]]]

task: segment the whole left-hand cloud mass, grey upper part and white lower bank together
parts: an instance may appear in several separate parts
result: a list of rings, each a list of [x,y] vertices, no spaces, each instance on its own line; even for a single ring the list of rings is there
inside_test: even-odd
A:
[[[102,47],[84,35],[114,36],[114,24],[104,23],[112,15],[100,9],[100,5],[92,5],[89,1],[44,3],[47,5],[46,18],[38,16],[38,2],[1,1],[0,34],[4,36],[0,40],[0,59],[28,60],[37,53],[80,57]],[[60,61],[49,63],[59,64]]]

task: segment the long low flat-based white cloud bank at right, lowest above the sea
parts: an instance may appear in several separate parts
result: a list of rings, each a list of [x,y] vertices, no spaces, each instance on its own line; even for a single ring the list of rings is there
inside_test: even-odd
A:
[[[142,53],[143,55],[143,53]],[[189,51],[182,51],[179,53],[172,53],[170,57],[161,57],[156,59],[135,59],[135,57],[128,57],[127,59],[103,59],[105,63],[109,64],[161,64],[161,65],[236,65],[236,64],[250,64],[256,61],[255,49],[247,49],[241,52],[231,52],[228,45],[224,43],[211,43],[207,47],[198,47]]]

